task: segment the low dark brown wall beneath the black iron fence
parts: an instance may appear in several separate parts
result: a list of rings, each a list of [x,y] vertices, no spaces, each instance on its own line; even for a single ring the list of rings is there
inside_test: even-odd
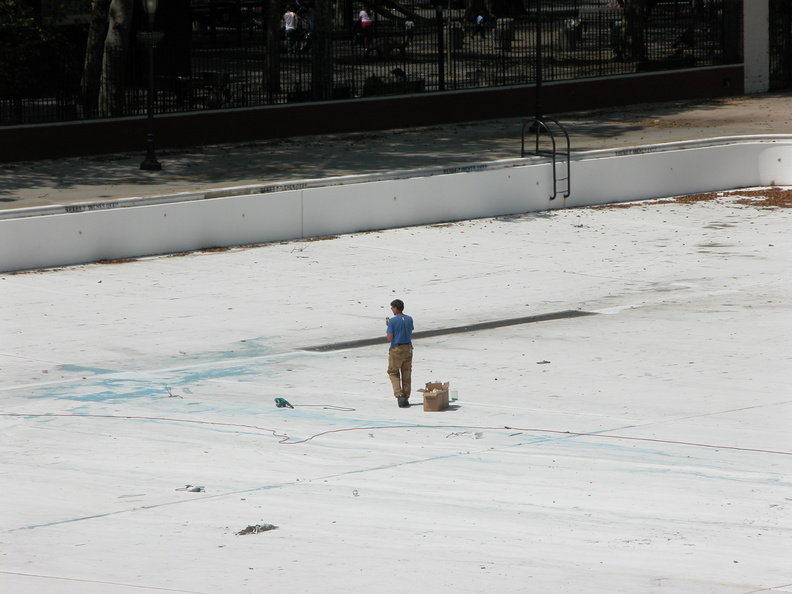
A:
[[[548,83],[544,115],[743,93],[743,67],[724,66]],[[155,118],[157,149],[309,134],[410,128],[534,115],[533,86],[203,111]],[[145,153],[146,118],[0,127],[0,162]]]

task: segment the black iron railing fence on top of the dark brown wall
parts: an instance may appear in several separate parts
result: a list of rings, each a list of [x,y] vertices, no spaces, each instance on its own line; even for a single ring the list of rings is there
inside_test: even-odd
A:
[[[513,16],[482,12],[477,22],[479,14],[469,10],[410,5],[400,12],[393,6],[405,5],[378,3],[365,32],[351,24],[356,15],[335,14],[332,30],[323,34],[307,11],[295,39],[280,31],[269,45],[255,7],[233,18],[195,13],[188,47],[177,51],[178,67],[173,46],[154,50],[155,111],[532,84],[538,64],[547,82],[741,60],[739,0],[640,4],[646,8],[636,11],[629,0],[530,0]],[[121,57],[125,75],[112,108],[104,95],[98,107],[87,107],[80,84],[84,54],[63,52],[51,56],[50,74],[38,86],[0,89],[0,125],[145,113],[147,52],[132,39]],[[26,76],[35,80],[34,74]]]

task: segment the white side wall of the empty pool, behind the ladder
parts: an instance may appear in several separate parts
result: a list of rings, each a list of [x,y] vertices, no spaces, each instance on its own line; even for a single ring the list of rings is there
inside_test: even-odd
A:
[[[789,184],[790,161],[789,137],[722,138],[577,153],[566,200],[550,200],[551,167],[532,158],[167,196],[161,204],[145,198],[6,211],[0,270]],[[231,195],[211,197],[221,194]]]

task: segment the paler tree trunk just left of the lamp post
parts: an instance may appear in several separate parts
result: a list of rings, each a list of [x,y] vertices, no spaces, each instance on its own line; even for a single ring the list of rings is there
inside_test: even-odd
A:
[[[99,113],[104,117],[122,117],[126,85],[125,64],[129,49],[133,0],[111,0],[109,27],[104,46]]]

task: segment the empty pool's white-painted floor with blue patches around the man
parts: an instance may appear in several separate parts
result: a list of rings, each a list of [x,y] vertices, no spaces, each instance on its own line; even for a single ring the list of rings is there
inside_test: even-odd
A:
[[[790,228],[645,203],[0,275],[0,592],[790,592]],[[301,350],[394,297],[600,313],[416,341],[459,393],[424,413],[384,344]]]

